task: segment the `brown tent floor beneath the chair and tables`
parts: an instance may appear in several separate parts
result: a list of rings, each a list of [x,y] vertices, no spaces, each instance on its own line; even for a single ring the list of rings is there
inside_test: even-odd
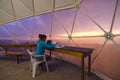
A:
[[[0,56],[0,80],[80,80],[80,67],[57,58],[48,61],[49,73],[38,68],[36,77],[33,79],[28,56],[25,56],[24,62],[19,64],[16,63],[15,58]],[[85,72],[85,80],[102,79],[94,74],[88,76],[88,73]]]

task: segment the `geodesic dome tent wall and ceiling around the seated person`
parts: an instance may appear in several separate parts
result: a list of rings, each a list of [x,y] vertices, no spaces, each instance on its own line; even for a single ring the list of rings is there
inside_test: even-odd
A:
[[[93,47],[92,69],[118,80],[119,8],[118,0],[1,0],[0,41],[36,41],[43,33],[61,44]]]

